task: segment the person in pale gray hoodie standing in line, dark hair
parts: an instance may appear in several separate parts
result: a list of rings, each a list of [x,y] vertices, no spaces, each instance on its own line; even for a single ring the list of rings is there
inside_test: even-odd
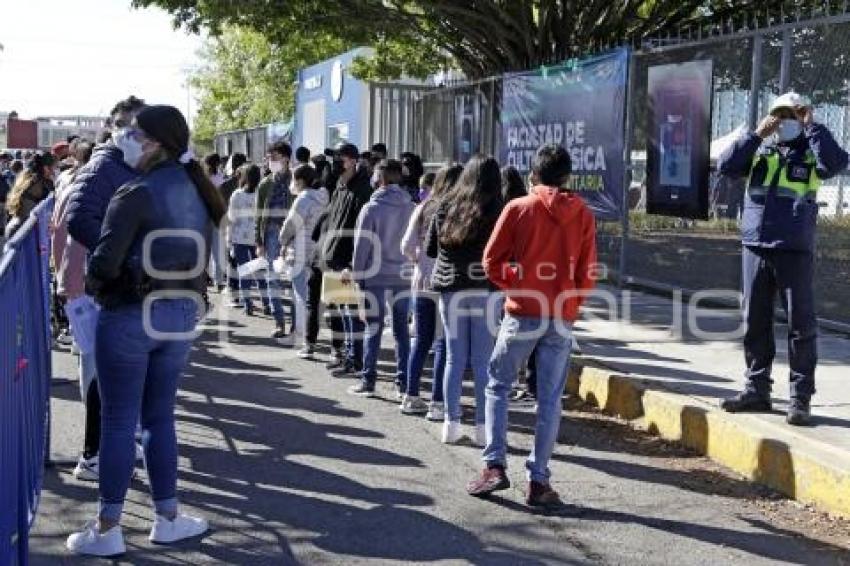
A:
[[[330,200],[323,185],[326,179],[322,178],[328,167],[323,162],[316,169],[310,165],[300,165],[293,171],[292,178],[298,197],[280,230],[281,253],[290,268],[295,296],[295,341],[299,347],[298,356],[302,358],[313,356],[318,339],[319,312],[317,308],[308,309],[308,282],[315,248],[313,230]],[[283,250],[289,250],[290,253],[284,254]],[[312,332],[308,332],[308,327]]]

